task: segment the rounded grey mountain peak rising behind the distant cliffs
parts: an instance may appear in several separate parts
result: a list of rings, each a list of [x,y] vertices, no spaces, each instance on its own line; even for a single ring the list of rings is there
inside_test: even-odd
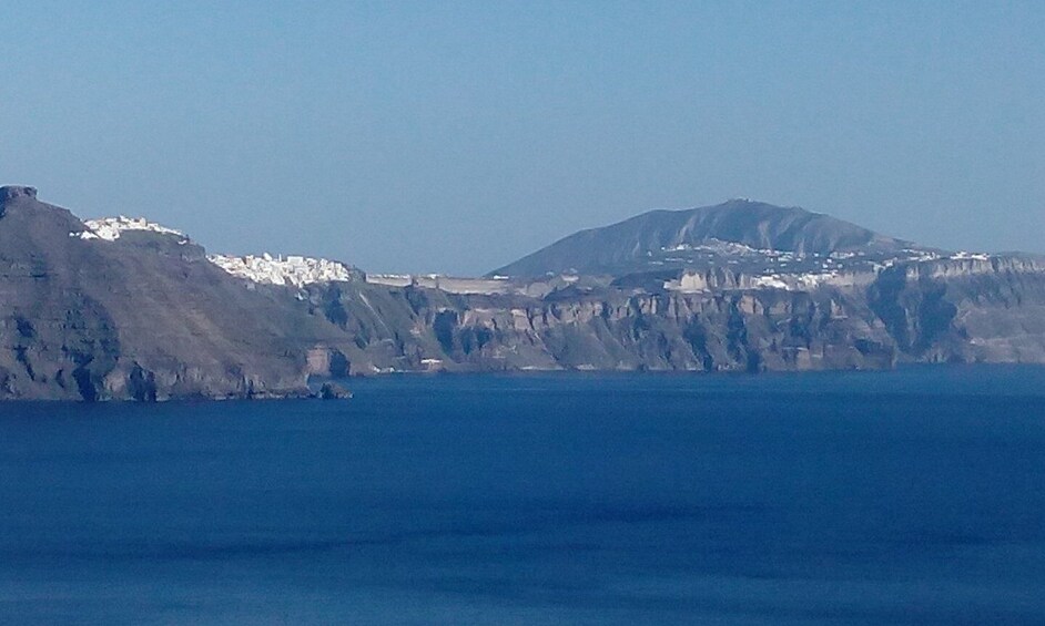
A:
[[[733,199],[686,211],[650,211],[611,226],[581,230],[490,275],[629,274],[692,265],[699,263],[699,253],[714,252],[722,244],[795,256],[850,252],[887,256],[916,247],[802,208]]]

